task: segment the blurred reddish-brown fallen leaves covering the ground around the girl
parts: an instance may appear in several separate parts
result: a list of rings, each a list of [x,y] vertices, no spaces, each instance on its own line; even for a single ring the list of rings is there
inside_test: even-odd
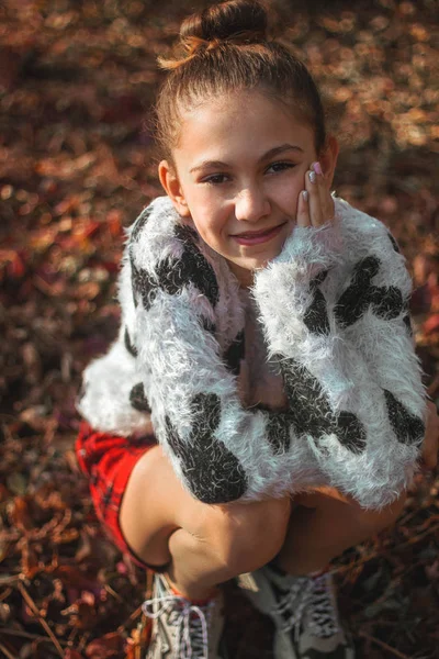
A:
[[[0,4],[0,655],[140,656],[145,574],[105,539],[74,454],[86,364],[115,337],[123,227],[159,193],[155,57],[204,1]],[[280,24],[326,91],[342,142],[336,189],[393,231],[439,399],[438,98],[434,0],[293,3]],[[436,170],[436,172],[435,172]],[[336,563],[364,657],[438,657],[437,476],[394,529]],[[234,658],[272,629],[227,588]]]

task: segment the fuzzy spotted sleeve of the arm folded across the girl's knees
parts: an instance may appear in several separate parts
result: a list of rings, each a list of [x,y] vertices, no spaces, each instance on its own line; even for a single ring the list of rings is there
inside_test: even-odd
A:
[[[166,222],[157,202],[134,225],[125,267],[136,370],[176,473],[205,503],[280,496],[292,482],[296,490],[326,484],[309,444],[292,434],[289,413],[243,407],[215,327],[226,297],[221,273],[198,234],[175,219],[165,239]]]

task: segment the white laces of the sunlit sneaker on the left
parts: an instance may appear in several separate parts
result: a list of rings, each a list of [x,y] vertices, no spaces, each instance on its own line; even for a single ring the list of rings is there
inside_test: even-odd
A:
[[[155,603],[161,604],[158,611],[149,607]],[[178,608],[176,608],[178,604]],[[180,659],[207,659],[209,640],[207,623],[213,602],[204,606],[196,606],[180,595],[162,595],[146,600],[142,604],[142,611],[151,619],[160,617],[170,610],[169,623],[177,627],[177,648]],[[206,621],[207,617],[207,621]]]

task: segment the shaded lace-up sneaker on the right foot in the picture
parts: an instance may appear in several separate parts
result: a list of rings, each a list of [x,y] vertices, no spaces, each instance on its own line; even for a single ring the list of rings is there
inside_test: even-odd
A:
[[[293,577],[272,566],[238,578],[240,588],[274,625],[274,659],[354,659],[341,628],[329,573]]]

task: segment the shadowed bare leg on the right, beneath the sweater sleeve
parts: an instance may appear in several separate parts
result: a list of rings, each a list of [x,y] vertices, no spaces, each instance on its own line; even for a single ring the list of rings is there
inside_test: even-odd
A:
[[[380,512],[367,511],[330,488],[296,498],[278,565],[290,574],[323,569],[345,549],[395,522],[405,498]]]

